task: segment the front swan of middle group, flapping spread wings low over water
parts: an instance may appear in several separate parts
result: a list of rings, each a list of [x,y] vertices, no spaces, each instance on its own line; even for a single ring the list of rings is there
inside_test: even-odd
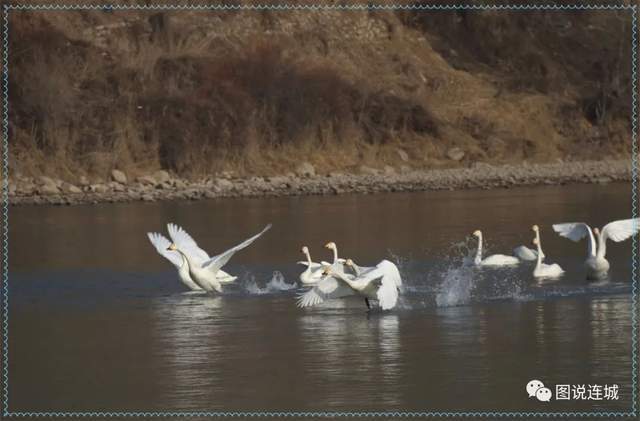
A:
[[[398,285],[402,284],[402,280],[397,266],[388,260],[381,261],[359,276],[347,275],[335,266],[325,266],[324,273],[325,278],[299,297],[299,307],[354,294],[364,297],[367,308],[371,308],[370,299],[378,300],[383,310],[395,307],[398,302]]]

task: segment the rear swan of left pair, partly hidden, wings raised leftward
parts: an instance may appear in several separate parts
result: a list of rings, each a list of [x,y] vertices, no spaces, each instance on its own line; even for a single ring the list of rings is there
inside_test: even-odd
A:
[[[194,260],[204,261],[209,259],[209,255],[198,247],[193,238],[191,238],[191,236],[182,228],[174,224],[168,224],[167,228],[169,230],[169,235],[172,237],[174,242],[180,244],[180,246],[185,250],[188,250],[187,252],[192,255]],[[180,281],[187,286],[187,288],[192,291],[202,291],[202,288],[200,288],[193,279],[191,279],[191,276],[189,275],[189,267],[185,258],[177,251],[168,250],[168,247],[171,245],[171,241],[157,232],[148,232],[147,237],[149,237],[149,241],[151,241],[151,244],[153,244],[156,251],[173,263],[173,265],[178,269],[178,277],[180,278]],[[223,283],[233,282],[236,279],[235,276],[231,276],[222,270],[217,273],[217,277],[220,282]]]

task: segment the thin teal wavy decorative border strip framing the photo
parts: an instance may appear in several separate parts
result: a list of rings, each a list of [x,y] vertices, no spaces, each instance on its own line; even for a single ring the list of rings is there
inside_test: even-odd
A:
[[[632,270],[631,270],[631,347],[632,347],[632,398],[628,411],[52,411],[52,412],[12,412],[9,410],[9,13],[11,11],[75,11],[75,10],[236,10],[236,11],[287,11],[306,10],[309,12],[337,11],[375,11],[375,10],[625,10],[631,14],[631,214],[638,217],[638,147],[637,147],[637,62],[638,62],[638,24],[636,4],[152,4],[152,5],[119,5],[119,4],[4,4],[2,5],[2,218],[0,238],[2,242],[2,416],[3,417],[633,417],[640,416],[638,411],[638,248],[637,235],[632,238]]]

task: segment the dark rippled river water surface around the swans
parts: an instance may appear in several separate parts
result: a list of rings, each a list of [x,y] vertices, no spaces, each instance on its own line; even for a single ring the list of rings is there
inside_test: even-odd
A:
[[[584,281],[586,244],[557,222],[631,217],[631,186],[566,186],[10,210],[9,409],[630,410],[631,241],[610,244],[610,279]],[[186,293],[147,231],[173,221],[211,254],[273,228],[225,268],[222,296]],[[462,263],[482,229],[490,252],[530,244],[548,262]],[[357,298],[298,309],[300,267],[343,257],[399,263],[390,312]],[[618,400],[539,402],[525,385],[619,386]]]

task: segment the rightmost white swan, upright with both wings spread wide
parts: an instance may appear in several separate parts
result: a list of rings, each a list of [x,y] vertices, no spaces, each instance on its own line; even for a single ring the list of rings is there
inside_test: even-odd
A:
[[[598,228],[591,230],[591,227],[584,222],[554,224],[553,230],[561,237],[575,242],[580,241],[587,235],[589,236],[587,259],[584,265],[587,269],[587,279],[597,280],[606,277],[609,272],[609,261],[605,258],[607,240],[610,239],[616,243],[624,241],[638,233],[640,230],[639,225],[640,218],[633,218],[610,222],[602,228],[602,231]]]

